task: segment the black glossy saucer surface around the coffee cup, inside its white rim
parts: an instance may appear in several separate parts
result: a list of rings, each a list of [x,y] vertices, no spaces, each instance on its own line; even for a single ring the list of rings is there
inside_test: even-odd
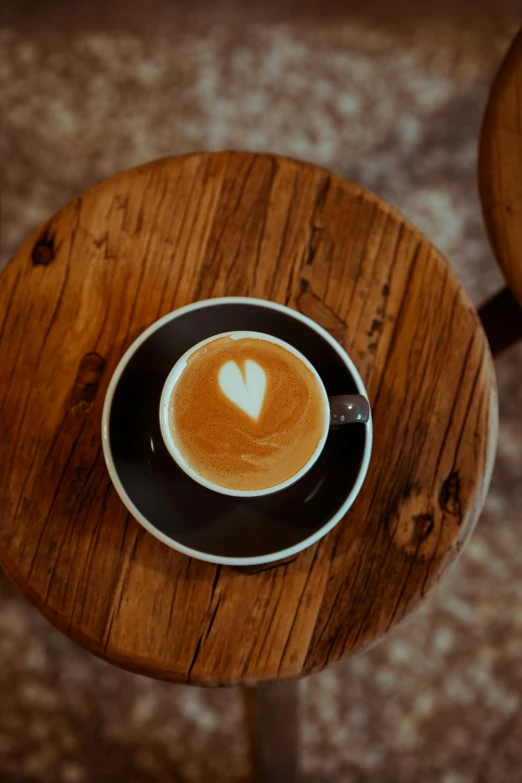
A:
[[[274,553],[286,557],[303,548],[310,537],[319,538],[320,531],[346,510],[343,507],[361,472],[367,427],[352,424],[332,430],[312,469],[293,486],[272,495],[234,498],[190,479],[162,440],[161,391],[186,350],[231,330],[265,332],[294,345],[317,369],[329,395],[360,393],[340,354],[308,323],[273,309],[268,302],[263,306],[244,300],[211,301],[173,314],[131,356],[114,389],[106,445],[135,507],[133,513],[137,511],[135,515],[148,523],[151,532],[175,548],[217,561],[247,558],[252,562],[251,558],[269,559]]]

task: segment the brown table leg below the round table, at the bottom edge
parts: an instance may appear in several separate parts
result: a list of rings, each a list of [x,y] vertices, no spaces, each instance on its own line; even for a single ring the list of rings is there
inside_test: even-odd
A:
[[[244,689],[250,756],[255,783],[297,783],[296,680]]]

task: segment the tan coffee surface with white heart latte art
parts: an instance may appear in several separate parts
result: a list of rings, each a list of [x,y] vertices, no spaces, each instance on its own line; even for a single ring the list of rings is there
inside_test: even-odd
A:
[[[186,462],[208,481],[237,490],[266,489],[294,476],[317,448],[324,417],[322,390],[309,368],[282,346],[253,338],[202,346],[169,401],[170,430]]]

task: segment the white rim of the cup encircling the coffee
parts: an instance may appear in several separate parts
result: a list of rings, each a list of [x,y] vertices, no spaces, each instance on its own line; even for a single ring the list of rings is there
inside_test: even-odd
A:
[[[183,370],[185,369],[187,362],[189,358],[192,356],[192,354],[194,354],[196,351],[199,351],[199,349],[203,348],[205,345],[209,345],[215,340],[219,340],[223,337],[230,337],[233,340],[245,340],[245,339],[264,340],[265,342],[269,342],[269,343],[273,343],[274,345],[281,346],[281,348],[284,348],[293,356],[296,356],[298,359],[300,359],[300,361],[303,362],[305,367],[308,368],[308,370],[312,373],[312,375],[316,379],[319,389],[321,391],[321,397],[323,402],[323,433],[321,435],[319,443],[314,449],[313,454],[303,465],[303,467],[297,471],[297,473],[294,473],[294,475],[290,476],[289,479],[279,482],[279,484],[274,484],[273,487],[266,487],[265,489],[260,489],[260,490],[229,489],[228,487],[222,487],[219,484],[216,484],[212,481],[209,481],[208,479],[205,479],[197,471],[195,471],[194,468],[192,468],[188,464],[187,460],[183,457],[180,450],[176,446],[176,442],[172,436],[172,432],[169,424],[169,402],[170,402],[172,392],[174,391],[174,387],[176,386],[176,383],[178,382],[181,375],[183,374]],[[306,473],[308,473],[310,468],[317,462],[317,460],[321,456],[321,453],[324,449],[324,445],[326,443],[326,439],[328,437],[329,418],[330,418],[330,406],[328,402],[328,395],[326,393],[326,389],[324,388],[324,383],[321,379],[321,376],[319,375],[319,373],[317,372],[313,364],[310,361],[308,361],[306,356],[303,356],[303,354],[300,351],[298,351],[296,348],[294,348],[293,345],[285,342],[284,340],[280,340],[278,337],[274,337],[271,334],[266,334],[265,332],[255,332],[255,331],[250,331],[245,329],[241,329],[241,330],[235,329],[229,332],[221,332],[220,334],[214,334],[211,337],[207,337],[205,340],[201,340],[201,342],[197,343],[196,345],[193,345],[191,348],[188,349],[188,351],[185,351],[183,356],[180,356],[180,358],[178,359],[178,361],[176,362],[176,364],[174,365],[174,367],[172,368],[172,370],[169,372],[167,376],[167,380],[165,381],[163,385],[163,390],[161,392],[160,405],[159,405],[159,421],[160,421],[160,429],[161,429],[161,434],[163,436],[163,441],[169,451],[170,456],[174,459],[177,465],[183,471],[185,471],[187,476],[189,476],[194,481],[197,481],[198,484],[201,484],[201,486],[206,487],[207,489],[211,489],[214,492],[218,492],[221,495],[229,495],[231,497],[237,497],[237,498],[241,498],[241,497],[256,498],[256,497],[264,497],[266,495],[272,495],[274,494],[274,492],[280,492],[281,490],[292,486],[292,484],[295,484],[296,481],[299,481],[300,478],[302,478]]]

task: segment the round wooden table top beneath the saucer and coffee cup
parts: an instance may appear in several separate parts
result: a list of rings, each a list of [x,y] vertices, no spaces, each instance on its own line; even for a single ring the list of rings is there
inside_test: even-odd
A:
[[[369,473],[332,532],[256,574],[191,560],[128,514],[103,461],[111,374],[160,316],[272,299],[330,331],[366,383]],[[321,669],[435,585],[482,508],[495,376],[444,258],[394,209],[272,155],[167,158],[64,207],[0,278],[0,565],[119,666],[195,684]]]

